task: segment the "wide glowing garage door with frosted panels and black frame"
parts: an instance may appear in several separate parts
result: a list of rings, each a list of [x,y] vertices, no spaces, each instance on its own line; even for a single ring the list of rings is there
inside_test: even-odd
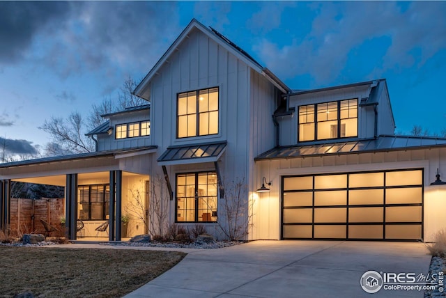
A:
[[[423,170],[282,177],[282,239],[422,240]]]

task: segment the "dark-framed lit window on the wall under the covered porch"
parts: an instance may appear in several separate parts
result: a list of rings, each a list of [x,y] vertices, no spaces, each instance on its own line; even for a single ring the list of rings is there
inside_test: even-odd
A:
[[[82,185],[78,188],[79,219],[103,220],[109,214],[109,185]]]

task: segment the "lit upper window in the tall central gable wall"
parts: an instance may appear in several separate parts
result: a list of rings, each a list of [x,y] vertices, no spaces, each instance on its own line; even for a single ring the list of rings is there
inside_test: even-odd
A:
[[[177,137],[218,134],[218,88],[178,94]]]

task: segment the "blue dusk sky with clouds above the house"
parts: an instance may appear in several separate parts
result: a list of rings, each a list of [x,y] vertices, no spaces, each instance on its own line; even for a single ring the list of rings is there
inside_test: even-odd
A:
[[[0,1],[0,141],[45,146],[45,120],[116,98],[192,18],[292,89],[387,79],[396,132],[440,134],[445,15],[445,1]]]

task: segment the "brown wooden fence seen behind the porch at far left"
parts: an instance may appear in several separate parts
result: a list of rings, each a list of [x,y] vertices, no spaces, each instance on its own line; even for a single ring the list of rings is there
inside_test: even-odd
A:
[[[40,219],[61,227],[61,217],[65,217],[64,198],[11,198],[10,230],[12,233],[45,233]]]

